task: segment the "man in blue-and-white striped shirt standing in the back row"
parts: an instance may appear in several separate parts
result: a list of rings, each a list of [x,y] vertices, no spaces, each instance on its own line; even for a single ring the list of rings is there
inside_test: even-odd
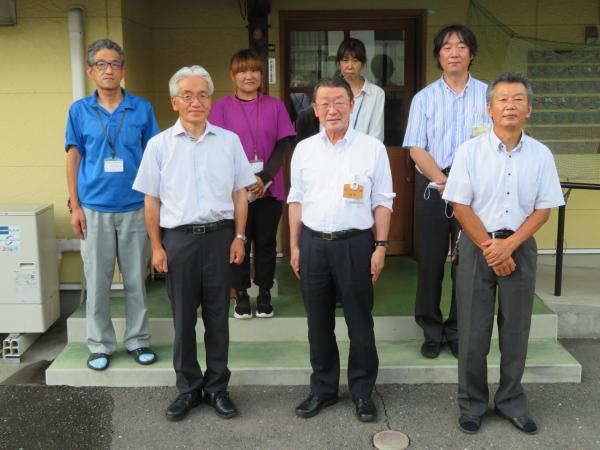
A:
[[[469,74],[477,54],[473,32],[464,25],[450,25],[438,32],[433,45],[433,55],[442,76],[413,98],[403,143],[418,169],[415,320],[423,328],[425,342],[421,353],[427,358],[440,354],[444,340],[458,357],[454,287],[450,314],[445,321],[440,299],[448,248],[449,245],[454,248],[459,224],[452,217],[451,206],[442,199],[442,193],[458,146],[490,123],[485,103],[487,86]]]

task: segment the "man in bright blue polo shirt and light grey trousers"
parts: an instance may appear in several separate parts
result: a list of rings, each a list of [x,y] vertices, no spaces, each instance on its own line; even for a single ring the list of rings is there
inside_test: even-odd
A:
[[[65,150],[71,226],[81,239],[87,281],[87,366],[108,367],[116,350],[110,318],[115,258],[126,292],[127,351],[140,364],[152,364],[146,314],[148,234],[144,196],[131,189],[148,140],[158,134],[150,103],[121,88],[125,58],[109,39],[90,45],[87,76],[96,84],[89,97],[69,110]]]

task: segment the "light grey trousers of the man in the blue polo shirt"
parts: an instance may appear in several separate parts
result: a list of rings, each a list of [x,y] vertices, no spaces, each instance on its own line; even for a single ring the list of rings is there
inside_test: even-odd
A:
[[[110,319],[110,287],[115,259],[125,286],[125,336],[127,350],[150,342],[146,312],[149,247],[144,208],[107,213],[84,208],[87,232],[81,241],[81,257],[87,283],[86,326],[90,352],[112,354],[117,348]]]

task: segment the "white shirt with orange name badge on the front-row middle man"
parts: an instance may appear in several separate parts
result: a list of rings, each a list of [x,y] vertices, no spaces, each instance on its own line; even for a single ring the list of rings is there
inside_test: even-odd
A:
[[[344,198],[344,185],[362,186],[362,199]],[[392,210],[396,194],[381,141],[348,128],[334,144],[324,131],[300,142],[291,164],[288,203],[302,205],[302,223],[322,232],[373,226],[376,206]]]

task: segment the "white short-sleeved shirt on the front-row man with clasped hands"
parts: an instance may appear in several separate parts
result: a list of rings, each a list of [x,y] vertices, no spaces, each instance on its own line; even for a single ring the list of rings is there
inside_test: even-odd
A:
[[[470,205],[488,232],[516,231],[534,210],[565,203],[550,149],[523,134],[509,152],[493,130],[460,146],[443,198]]]

